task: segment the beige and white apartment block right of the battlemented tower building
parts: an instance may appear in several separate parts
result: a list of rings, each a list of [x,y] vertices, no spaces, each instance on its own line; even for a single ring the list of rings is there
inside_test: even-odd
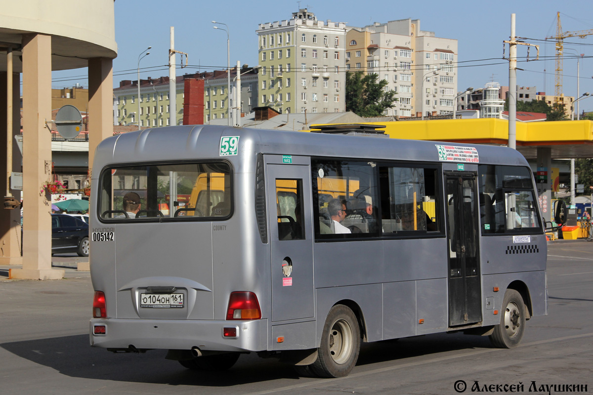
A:
[[[349,27],[346,69],[375,73],[397,92],[385,115],[420,117],[448,114],[457,92],[457,40],[420,29],[420,20],[397,20]]]

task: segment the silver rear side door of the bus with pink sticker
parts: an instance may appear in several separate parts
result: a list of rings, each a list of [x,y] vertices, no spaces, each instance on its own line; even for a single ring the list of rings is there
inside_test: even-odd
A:
[[[267,165],[272,321],[314,316],[311,171]]]

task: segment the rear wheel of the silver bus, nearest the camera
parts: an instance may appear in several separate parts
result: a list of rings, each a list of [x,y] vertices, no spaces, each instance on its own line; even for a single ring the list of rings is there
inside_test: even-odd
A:
[[[356,316],[343,304],[331,307],[321,333],[317,361],[311,369],[319,377],[345,377],[356,365],[361,331]]]

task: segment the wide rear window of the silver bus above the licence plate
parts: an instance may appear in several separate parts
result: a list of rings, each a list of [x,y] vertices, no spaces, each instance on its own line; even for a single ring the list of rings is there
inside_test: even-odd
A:
[[[101,175],[104,220],[213,220],[231,215],[226,162],[112,167]]]

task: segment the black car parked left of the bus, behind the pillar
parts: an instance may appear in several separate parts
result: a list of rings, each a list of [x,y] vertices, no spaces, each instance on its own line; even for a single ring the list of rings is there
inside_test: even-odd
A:
[[[88,256],[88,224],[67,214],[52,214],[52,255],[76,252]]]

